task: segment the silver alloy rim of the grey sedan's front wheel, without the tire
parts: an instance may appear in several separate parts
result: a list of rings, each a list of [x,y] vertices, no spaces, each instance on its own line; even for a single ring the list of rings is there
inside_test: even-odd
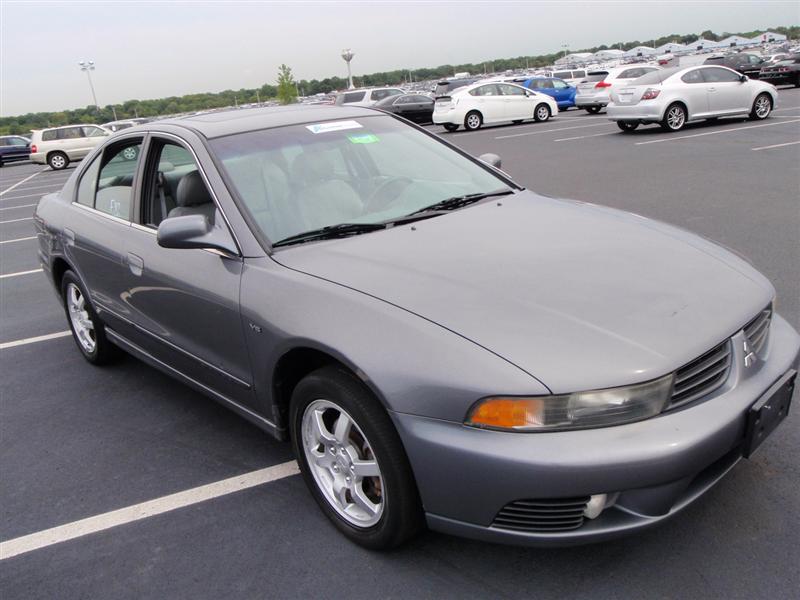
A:
[[[385,486],[353,418],[329,400],[314,400],[303,413],[302,444],[314,481],[336,513],[356,527],[375,525],[386,504]]]

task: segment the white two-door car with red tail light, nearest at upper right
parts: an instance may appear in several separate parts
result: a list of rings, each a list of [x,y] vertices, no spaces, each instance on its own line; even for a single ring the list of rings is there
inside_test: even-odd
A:
[[[608,118],[622,131],[659,123],[678,131],[689,121],[749,116],[766,119],[778,103],[774,85],[722,66],[675,67],[648,73],[611,93]]]

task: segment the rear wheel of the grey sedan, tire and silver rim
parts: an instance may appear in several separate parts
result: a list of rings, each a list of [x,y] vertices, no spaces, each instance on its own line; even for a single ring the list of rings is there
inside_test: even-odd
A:
[[[61,298],[72,331],[72,339],[83,357],[93,365],[113,362],[121,350],[106,338],[105,326],[89,303],[83,284],[72,271],[61,279]]]

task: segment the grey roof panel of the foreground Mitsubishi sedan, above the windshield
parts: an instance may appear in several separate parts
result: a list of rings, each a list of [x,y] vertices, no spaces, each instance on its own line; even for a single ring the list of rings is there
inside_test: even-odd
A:
[[[211,113],[162,119],[142,125],[139,131],[159,129],[163,125],[176,125],[191,129],[207,138],[235,133],[272,129],[288,125],[302,125],[339,119],[357,119],[375,116],[379,111],[361,106],[336,106],[334,104],[291,104],[259,108],[231,108]]]

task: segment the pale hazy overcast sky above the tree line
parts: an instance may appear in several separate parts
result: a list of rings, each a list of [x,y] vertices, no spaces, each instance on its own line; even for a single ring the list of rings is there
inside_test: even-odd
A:
[[[800,24],[800,2],[0,0],[0,116]]]

